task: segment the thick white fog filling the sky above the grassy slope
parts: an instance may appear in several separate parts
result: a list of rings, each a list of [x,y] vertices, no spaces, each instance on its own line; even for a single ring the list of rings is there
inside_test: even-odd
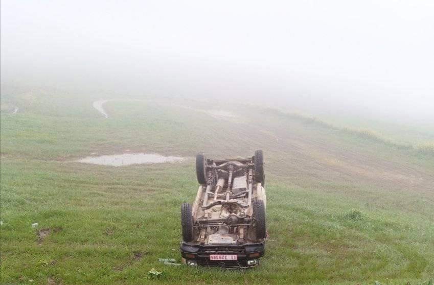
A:
[[[2,84],[434,122],[434,2],[1,2]]]

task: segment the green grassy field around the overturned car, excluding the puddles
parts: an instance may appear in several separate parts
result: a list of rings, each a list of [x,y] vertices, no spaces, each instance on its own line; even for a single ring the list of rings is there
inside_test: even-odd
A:
[[[113,97],[113,96],[111,96]],[[254,107],[2,93],[2,284],[382,284],[434,277],[434,155]],[[11,106],[19,111],[11,114]],[[269,240],[247,271],[171,267],[193,157],[266,161]],[[181,163],[75,162],[129,152]],[[39,223],[32,228],[33,223]],[[152,269],[164,271],[149,278]]]

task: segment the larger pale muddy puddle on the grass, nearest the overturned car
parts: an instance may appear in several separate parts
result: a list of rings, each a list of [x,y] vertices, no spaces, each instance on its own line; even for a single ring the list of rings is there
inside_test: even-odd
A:
[[[87,156],[78,162],[120,167],[131,164],[164,163],[182,161],[185,157],[164,156],[156,153],[123,153],[115,155]]]

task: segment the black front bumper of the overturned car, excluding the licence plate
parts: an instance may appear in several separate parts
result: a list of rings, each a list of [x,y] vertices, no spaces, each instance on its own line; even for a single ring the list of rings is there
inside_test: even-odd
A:
[[[197,265],[207,267],[219,267],[227,269],[239,269],[255,267],[259,264],[259,258],[265,253],[265,243],[245,245],[196,245],[181,243],[182,262],[196,262]],[[211,260],[212,254],[234,254],[237,260]],[[248,260],[256,260],[255,262]]]

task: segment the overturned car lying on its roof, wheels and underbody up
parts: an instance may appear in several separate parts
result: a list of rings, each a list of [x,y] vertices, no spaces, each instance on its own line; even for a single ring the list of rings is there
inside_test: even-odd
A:
[[[267,234],[262,151],[222,160],[200,153],[196,174],[196,199],[181,206],[182,262],[221,268],[258,265]]]

